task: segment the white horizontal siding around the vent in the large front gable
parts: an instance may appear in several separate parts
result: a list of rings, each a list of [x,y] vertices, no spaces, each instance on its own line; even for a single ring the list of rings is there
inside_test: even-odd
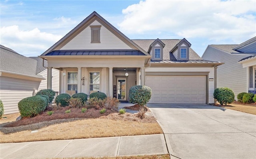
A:
[[[91,25],[101,25],[98,21],[92,22]],[[126,43],[120,40],[116,35],[111,33],[106,27],[100,28],[100,43],[91,43],[91,28],[86,27],[81,33],[76,35],[61,50],[72,49],[131,49]]]

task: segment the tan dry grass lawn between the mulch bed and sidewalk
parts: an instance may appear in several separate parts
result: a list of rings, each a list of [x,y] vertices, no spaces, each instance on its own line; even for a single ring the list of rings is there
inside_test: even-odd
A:
[[[59,119],[11,128],[4,128],[0,124],[0,143],[163,133],[151,117],[146,117],[148,119],[145,121],[148,122],[140,122],[133,121],[138,118],[134,114],[117,114],[96,119]],[[2,120],[4,119],[1,119],[1,123]],[[31,133],[32,130],[38,132]]]

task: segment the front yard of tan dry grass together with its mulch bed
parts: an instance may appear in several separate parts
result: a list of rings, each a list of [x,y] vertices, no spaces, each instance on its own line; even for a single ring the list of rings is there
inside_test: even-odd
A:
[[[70,113],[65,113],[70,109]],[[82,113],[78,108],[64,107],[49,116],[47,111],[32,118],[16,120],[20,114],[5,115],[0,119],[0,143],[46,141],[60,139],[84,139],[126,135],[163,133],[154,117],[140,119],[136,114],[119,114],[107,110],[89,109]],[[72,112],[74,114],[72,114]],[[32,131],[38,132],[32,133]]]

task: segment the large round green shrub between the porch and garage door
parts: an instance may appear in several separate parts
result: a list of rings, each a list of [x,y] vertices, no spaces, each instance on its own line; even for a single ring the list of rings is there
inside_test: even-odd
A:
[[[144,106],[148,103],[152,90],[148,86],[132,86],[129,90],[129,102]]]

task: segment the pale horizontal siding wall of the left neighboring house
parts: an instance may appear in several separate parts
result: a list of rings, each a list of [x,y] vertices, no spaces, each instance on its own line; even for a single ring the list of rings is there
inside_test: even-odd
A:
[[[0,99],[4,104],[4,114],[18,112],[18,102],[33,96],[38,90],[40,81],[16,79],[0,76]]]

